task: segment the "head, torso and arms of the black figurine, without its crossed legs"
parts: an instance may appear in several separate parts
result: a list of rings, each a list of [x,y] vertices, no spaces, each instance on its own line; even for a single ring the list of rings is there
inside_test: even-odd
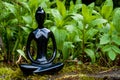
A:
[[[57,48],[56,48],[56,41],[55,41],[54,35],[53,35],[52,31],[50,31],[47,28],[44,28],[44,26],[43,26],[44,21],[45,21],[45,16],[46,16],[45,11],[41,7],[39,7],[35,14],[35,18],[38,23],[38,28],[30,33],[28,40],[27,40],[26,51],[27,51],[28,58],[31,60],[31,62],[36,63],[36,64],[50,63],[54,60],[54,58],[56,56]],[[46,54],[47,54],[47,45],[48,45],[49,38],[52,39],[52,43],[53,43],[53,56],[48,61],[46,59]],[[36,61],[34,61],[32,59],[32,57],[30,56],[30,44],[33,39],[37,43],[37,45],[36,45],[37,46]]]

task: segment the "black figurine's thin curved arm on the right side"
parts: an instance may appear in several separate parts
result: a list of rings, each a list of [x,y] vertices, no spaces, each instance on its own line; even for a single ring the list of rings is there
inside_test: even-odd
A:
[[[50,38],[52,39],[52,44],[53,44],[53,55],[52,58],[49,60],[49,62],[52,62],[55,59],[57,53],[57,46],[53,32],[50,33]]]

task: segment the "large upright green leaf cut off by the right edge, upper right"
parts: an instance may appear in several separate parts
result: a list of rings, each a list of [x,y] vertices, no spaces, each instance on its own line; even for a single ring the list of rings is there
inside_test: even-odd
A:
[[[113,25],[116,31],[120,32],[120,8],[116,9],[113,14]]]

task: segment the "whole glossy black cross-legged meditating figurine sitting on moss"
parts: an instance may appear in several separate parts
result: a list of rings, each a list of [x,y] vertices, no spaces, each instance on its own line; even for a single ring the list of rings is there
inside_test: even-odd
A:
[[[63,68],[63,63],[53,63],[57,51],[56,41],[52,31],[44,28],[43,26],[45,20],[45,12],[41,7],[37,9],[35,18],[38,23],[38,28],[29,34],[26,46],[27,57],[31,61],[31,64],[20,64],[20,68],[24,74],[42,74],[57,72]],[[53,44],[53,54],[52,57],[48,60],[46,55],[48,41],[50,38]],[[37,57],[35,60],[30,55],[30,45],[32,40],[36,42],[37,46]]]

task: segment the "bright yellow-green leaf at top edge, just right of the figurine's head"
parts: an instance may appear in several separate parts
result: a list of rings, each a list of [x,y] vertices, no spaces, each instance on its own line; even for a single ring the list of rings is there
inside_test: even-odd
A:
[[[64,3],[61,2],[60,0],[56,0],[56,3],[57,3],[57,8],[58,8],[60,14],[62,16],[65,16],[66,15],[66,8],[65,8]]]

